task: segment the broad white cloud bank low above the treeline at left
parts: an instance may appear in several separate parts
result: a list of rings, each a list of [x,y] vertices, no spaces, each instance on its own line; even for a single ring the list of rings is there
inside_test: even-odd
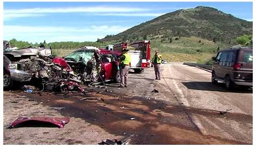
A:
[[[24,40],[29,42],[55,41],[96,41],[108,34],[117,34],[130,27],[89,26],[84,28],[63,26],[4,26],[4,39]]]

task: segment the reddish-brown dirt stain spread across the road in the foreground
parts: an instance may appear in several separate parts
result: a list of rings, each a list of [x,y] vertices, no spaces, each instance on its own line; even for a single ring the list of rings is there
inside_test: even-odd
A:
[[[119,97],[116,94],[94,92],[86,97],[99,97],[104,101],[81,101],[79,93],[63,97],[51,95],[48,99],[37,94],[30,94],[28,97],[45,106],[65,107],[59,111],[62,115],[82,119],[107,133],[118,136],[134,134],[131,144],[246,144],[216,136],[204,136],[187,116],[189,112],[223,118],[215,111],[170,106],[159,100],[142,97]],[[229,118],[252,119],[241,114],[230,114]]]

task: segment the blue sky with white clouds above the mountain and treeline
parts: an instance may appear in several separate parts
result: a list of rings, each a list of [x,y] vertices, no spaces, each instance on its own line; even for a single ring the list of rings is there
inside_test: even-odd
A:
[[[162,14],[211,6],[252,21],[252,2],[4,2],[4,40],[96,41]]]

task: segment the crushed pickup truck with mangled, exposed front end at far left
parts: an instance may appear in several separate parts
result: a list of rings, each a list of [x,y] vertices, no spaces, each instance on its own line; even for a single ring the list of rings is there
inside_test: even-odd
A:
[[[44,89],[59,91],[84,91],[78,85],[81,81],[73,74],[63,58],[51,56],[51,49],[28,47],[9,50],[4,53],[9,58],[11,79],[31,82]]]

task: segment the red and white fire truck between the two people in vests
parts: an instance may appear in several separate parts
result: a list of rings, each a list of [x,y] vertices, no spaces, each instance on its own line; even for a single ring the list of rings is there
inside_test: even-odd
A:
[[[133,69],[135,73],[140,73],[144,69],[150,68],[152,64],[150,61],[150,41],[134,42],[130,43],[129,46],[135,48],[128,51],[131,56],[130,69]]]

